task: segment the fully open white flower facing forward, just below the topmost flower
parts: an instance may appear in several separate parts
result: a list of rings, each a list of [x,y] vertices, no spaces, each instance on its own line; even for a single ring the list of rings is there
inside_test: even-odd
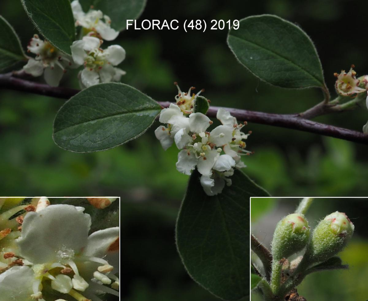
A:
[[[101,49],[102,40],[93,36],[84,36],[82,40],[74,41],[71,48],[73,60],[78,65],[84,65],[79,72],[82,88],[99,84],[100,82],[118,82],[125,71],[114,66],[125,59],[125,50],[119,45],[111,45]]]

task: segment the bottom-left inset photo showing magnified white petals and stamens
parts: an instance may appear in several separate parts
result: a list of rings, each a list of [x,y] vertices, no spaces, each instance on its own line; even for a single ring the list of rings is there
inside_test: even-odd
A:
[[[0,198],[0,300],[120,300],[119,205]]]

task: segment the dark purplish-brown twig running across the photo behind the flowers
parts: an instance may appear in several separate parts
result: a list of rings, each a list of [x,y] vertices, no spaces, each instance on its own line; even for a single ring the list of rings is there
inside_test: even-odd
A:
[[[0,74],[0,87],[15,91],[24,91],[40,95],[52,96],[56,98],[68,99],[77,94],[79,90],[66,87],[51,87],[21,78],[15,78],[12,74]],[[170,102],[158,102],[162,107],[168,107]],[[329,102],[331,104],[332,102]],[[211,106],[207,112],[209,117],[216,117],[219,107]],[[272,114],[258,111],[225,108],[241,121],[249,121],[259,124],[272,125],[276,127],[290,128],[293,130],[311,132],[313,134],[324,135],[348,141],[358,142],[368,145],[368,135],[362,132],[348,130],[346,128],[335,127],[318,123],[305,118],[302,114]]]

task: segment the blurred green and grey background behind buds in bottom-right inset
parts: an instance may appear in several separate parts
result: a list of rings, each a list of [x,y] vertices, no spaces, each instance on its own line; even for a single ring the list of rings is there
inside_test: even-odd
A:
[[[282,217],[293,213],[301,198],[252,198],[251,199],[251,233],[265,247],[270,249],[273,231],[276,223]],[[343,300],[364,301],[368,299],[368,224],[366,212],[367,198],[316,198],[309,208],[307,217],[313,230],[319,220],[326,215],[339,211],[345,212],[354,223],[354,235],[347,247],[338,255],[343,264],[348,264],[348,270],[330,270],[308,275],[297,287],[298,294],[309,300]],[[299,252],[290,257],[302,255]],[[252,252],[252,262],[261,267],[262,263]],[[261,301],[261,295],[253,292],[252,301]]]

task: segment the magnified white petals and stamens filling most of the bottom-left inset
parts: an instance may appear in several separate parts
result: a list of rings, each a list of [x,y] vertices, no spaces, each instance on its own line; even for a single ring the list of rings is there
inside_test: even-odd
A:
[[[8,220],[9,224],[20,225],[12,231],[13,244],[7,244],[11,248],[1,246],[2,297],[45,301],[44,295],[50,290],[53,295],[67,294],[78,301],[100,300],[96,292],[119,295],[115,275],[118,227],[88,236],[91,216],[83,212],[83,207],[50,205],[47,198],[40,198],[37,206],[25,207],[31,208],[15,220]],[[11,213],[20,209],[15,207]]]

